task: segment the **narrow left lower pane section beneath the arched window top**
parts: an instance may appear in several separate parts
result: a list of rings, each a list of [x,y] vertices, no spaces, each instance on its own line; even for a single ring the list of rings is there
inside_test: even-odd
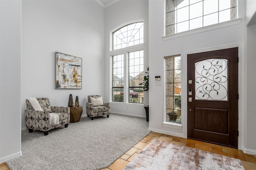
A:
[[[112,56],[112,101],[124,102],[124,55]]]

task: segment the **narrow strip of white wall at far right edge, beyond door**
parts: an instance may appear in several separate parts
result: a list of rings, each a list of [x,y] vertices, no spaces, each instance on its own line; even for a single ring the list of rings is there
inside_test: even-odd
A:
[[[255,154],[256,150],[256,1],[246,0],[246,141],[245,152]]]

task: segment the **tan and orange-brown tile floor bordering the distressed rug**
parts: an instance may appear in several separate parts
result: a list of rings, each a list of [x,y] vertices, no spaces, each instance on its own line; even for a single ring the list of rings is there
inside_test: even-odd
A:
[[[242,161],[245,170],[256,170],[256,158],[253,155],[245,154],[241,150],[223,147],[220,145],[214,145],[201,141],[195,141],[192,139],[184,139],[181,137],[164,135],[155,132],[151,132],[150,134],[148,134],[148,136],[146,136],[134,147],[132,147],[132,149],[128,150],[125,154],[118,158],[118,160],[116,160],[113,164],[108,166],[108,168],[104,168],[101,170],[122,170],[142,149],[144,149],[144,147],[148,145],[148,143],[150,143],[152,139],[167,141],[178,145],[184,145],[187,147],[192,147],[200,150],[205,150],[208,152],[213,152],[216,154],[230,156],[232,158],[237,158]]]

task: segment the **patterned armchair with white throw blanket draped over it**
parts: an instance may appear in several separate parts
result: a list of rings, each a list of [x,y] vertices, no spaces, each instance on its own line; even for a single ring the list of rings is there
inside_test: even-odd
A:
[[[65,125],[68,127],[70,122],[70,108],[69,107],[55,107],[50,106],[48,98],[36,98],[42,107],[43,111],[35,110],[32,104],[26,100],[27,109],[25,110],[26,126],[29,133],[33,130],[44,131],[44,135],[48,135],[48,131],[56,127]],[[59,124],[50,125],[49,113],[56,113],[59,116]],[[52,124],[52,123],[51,123]]]

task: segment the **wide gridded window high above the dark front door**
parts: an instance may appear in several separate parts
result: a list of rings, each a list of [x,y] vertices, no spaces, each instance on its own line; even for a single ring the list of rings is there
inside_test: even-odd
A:
[[[166,35],[236,19],[236,0],[166,0]]]

